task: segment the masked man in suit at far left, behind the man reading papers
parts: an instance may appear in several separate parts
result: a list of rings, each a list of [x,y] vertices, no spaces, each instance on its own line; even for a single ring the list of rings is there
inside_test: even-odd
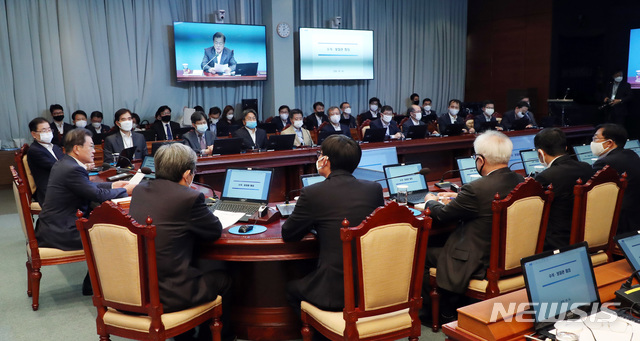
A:
[[[36,185],[33,197],[40,204],[44,203],[49,183],[49,173],[56,161],[60,160],[64,153],[62,148],[51,143],[53,132],[49,122],[42,117],[37,117],[29,122],[29,130],[33,137],[33,143],[27,151],[27,163],[31,169],[31,175]]]

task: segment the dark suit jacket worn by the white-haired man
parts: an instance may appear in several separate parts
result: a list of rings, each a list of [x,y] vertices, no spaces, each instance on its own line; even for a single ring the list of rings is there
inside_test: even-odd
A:
[[[505,167],[462,186],[448,205],[435,200],[426,203],[434,221],[458,222],[437,258],[436,280],[440,288],[464,293],[472,277],[485,277],[491,251],[493,196],[497,192],[501,198],[506,197],[522,181],[521,175]]]

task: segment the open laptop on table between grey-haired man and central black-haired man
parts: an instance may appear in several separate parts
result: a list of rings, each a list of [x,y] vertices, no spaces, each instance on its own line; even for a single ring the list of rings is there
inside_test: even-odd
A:
[[[261,206],[269,203],[272,168],[227,168],[220,200],[212,210],[244,212],[240,221],[249,221]]]

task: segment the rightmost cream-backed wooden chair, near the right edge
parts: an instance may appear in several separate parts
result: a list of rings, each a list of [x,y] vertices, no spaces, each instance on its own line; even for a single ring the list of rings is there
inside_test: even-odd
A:
[[[578,179],[573,188],[573,219],[569,243],[587,241],[593,266],[611,261],[615,248],[613,237],[618,229],[626,187],[627,174],[618,177],[618,172],[607,165],[584,185]]]

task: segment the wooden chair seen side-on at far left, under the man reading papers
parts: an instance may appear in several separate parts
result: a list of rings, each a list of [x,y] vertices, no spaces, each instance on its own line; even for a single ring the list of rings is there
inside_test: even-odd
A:
[[[39,247],[33,228],[33,217],[29,210],[27,185],[13,166],[9,166],[13,175],[13,196],[20,217],[20,225],[27,246],[27,295],[31,297],[31,308],[38,310],[40,299],[40,268],[48,265],[67,264],[84,261],[82,250],[63,251],[55,248]]]

